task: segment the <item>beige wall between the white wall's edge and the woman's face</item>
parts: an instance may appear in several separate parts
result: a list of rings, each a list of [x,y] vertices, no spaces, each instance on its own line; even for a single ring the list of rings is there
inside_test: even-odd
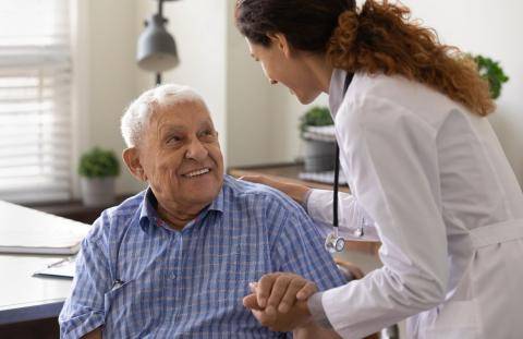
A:
[[[307,109],[282,85],[271,86],[228,10],[228,156],[230,166],[294,161],[301,154],[299,118]],[[327,105],[321,96],[313,105]]]

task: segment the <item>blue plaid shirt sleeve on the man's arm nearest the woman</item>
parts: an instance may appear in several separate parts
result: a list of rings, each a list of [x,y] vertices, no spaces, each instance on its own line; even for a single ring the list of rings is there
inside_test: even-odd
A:
[[[271,250],[276,270],[297,274],[321,291],[345,283],[311,218],[296,204],[287,205]]]

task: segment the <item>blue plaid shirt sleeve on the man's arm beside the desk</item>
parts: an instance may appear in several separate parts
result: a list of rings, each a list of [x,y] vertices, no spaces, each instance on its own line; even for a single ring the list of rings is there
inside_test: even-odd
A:
[[[111,275],[100,234],[108,227],[102,218],[95,221],[76,256],[72,291],[59,316],[61,338],[80,338],[105,323],[104,294],[110,288]]]

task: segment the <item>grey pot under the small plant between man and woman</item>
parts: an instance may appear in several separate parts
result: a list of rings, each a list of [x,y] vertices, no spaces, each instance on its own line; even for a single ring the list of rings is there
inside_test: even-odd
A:
[[[304,140],[306,172],[331,171],[335,168],[336,148],[332,142]]]

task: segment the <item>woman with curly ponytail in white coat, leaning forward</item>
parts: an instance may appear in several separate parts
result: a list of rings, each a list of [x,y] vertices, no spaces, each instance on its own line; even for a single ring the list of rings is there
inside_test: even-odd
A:
[[[303,104],[329,94],[352,192],[340,195],[340,232],[380,241],[384,264],[323,293],[267,275],[244,304],[273,329],[315,320],[343,338],[404,318],[412,338],[522,338],[523,195],[485,118],[488,84],[409,14],[387,1],[238,1],[236,26],[269,81]],[[247,180],[331,228],[331,192]]]

